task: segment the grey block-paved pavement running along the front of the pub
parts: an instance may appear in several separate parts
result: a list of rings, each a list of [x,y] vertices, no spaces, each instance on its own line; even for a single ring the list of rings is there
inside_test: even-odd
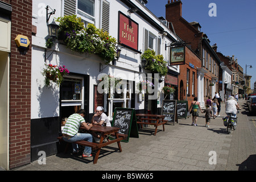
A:
[[[212,118],[209,128],[205,127],[201,114],[198,126],[191,126],[192,118],[187,118],[179,119],[175,125],[165,125],[165,131],[159,126],[161,130],[156,136],[152,135],[152,126],[139,130],[139,138],[130,137],[129,143],[121,142],[122,152],[117,151],[117,143],[104,147],[97,164],[93,164],[93,158],[57,154],[48,156],[46,164],[35,161],[14,171],[256,170],[256,116],[247,116],[244,100],[238,103],[242,110],[238,114],[237,130],[231,134],[226,133],[223,125],[225,104],[222,103],[221,117]]]

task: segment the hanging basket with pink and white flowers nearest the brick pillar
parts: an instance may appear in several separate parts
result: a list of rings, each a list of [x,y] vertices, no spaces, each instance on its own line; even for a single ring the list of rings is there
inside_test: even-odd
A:
[[[63,65],[63,67],[58,67],[53,64],[46,64],[46,68],[43,69],[43,76],[45,76],[46,86],[49,86],[50,81],[55,82],[58,86],[63,82],[63,76],[68,75],[69,71]]]

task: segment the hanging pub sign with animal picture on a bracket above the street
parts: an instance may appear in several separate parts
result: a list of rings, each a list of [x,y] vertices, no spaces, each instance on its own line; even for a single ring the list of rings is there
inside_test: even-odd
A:
[[[185,46],[171,47],[171,65],[185,64]]]

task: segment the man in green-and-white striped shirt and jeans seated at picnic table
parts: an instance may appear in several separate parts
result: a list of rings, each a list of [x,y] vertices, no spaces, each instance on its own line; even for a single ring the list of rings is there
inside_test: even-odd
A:
[[[88,142],[93,142],[93,137],[91,134],[88,133],[79,133],[79,127],[82,125],[85,127],[86,130],[90,130],[93,126],[91,123],[86,123],[84,120],[85,110],[81,109],[77,113],[72,114],[68,117],[67,122],[65,123],[64,129],[62,131],[63,140],[65,142],[72,143],[73,146],[73,153],[77,153],[78,146],[76,141],[85,140]],[[84,152],[82,157],[90,157],[92,156],[92,148],[91,147],[84,147]]]

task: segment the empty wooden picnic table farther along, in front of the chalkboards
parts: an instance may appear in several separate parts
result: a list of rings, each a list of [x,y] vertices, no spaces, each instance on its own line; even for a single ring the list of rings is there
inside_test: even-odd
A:
[[[155,134],[158,130],[159,125],[163,125],[163,131],[164,131],[164,124],[167,122],[164,120],[165,115],[158,115],[158,114],[136,114],[137,117],[137,123],[138,124],[145,124],[145,125],[154,125],[155,126]],[[143,128],[143,126],[142,126]]]

